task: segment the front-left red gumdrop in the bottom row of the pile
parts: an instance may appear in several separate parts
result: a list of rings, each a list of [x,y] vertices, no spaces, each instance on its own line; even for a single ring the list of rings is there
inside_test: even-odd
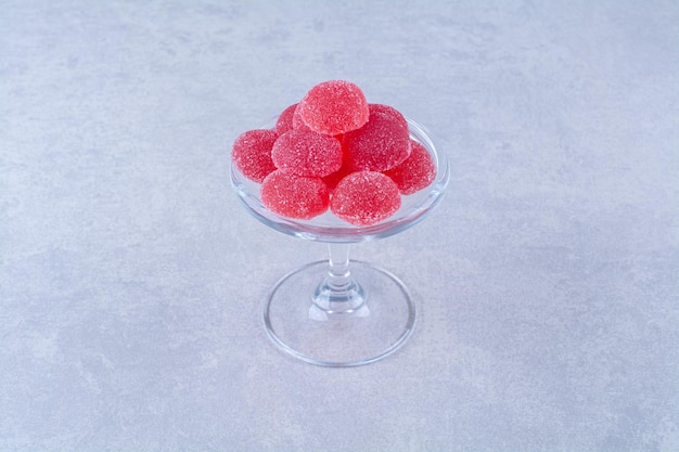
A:
[[[261,182],[261,204],[274,214],[302,220],[328,210],[330,195],[320,178],[276,170]]]

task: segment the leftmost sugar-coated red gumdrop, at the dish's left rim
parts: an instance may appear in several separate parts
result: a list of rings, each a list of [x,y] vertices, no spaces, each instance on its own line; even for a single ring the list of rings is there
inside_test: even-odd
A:
[[[243,132],[233,142],[231,162],[243,176],[259,183],[276,170],[271,150],[277,139],[278,133],[273,130],[257,129]]]

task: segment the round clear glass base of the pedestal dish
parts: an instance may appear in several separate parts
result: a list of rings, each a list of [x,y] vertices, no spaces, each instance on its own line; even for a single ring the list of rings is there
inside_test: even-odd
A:
[[[308,263],[271,289],[264,321],[279,348],[312,364],[347,367],[377,361],[406,343],[415,307],[398,277],[351,260],[348,283],[336,289],[328,269],[326,260]]]

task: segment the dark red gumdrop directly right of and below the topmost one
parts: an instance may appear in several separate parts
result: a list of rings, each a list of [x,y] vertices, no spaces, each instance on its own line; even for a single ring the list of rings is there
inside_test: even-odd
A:
[[[408,127],[387,113],[373,113],[366,126],[345,133],[342,143],[347,164],[356,170],[386,171],[410,155]]]

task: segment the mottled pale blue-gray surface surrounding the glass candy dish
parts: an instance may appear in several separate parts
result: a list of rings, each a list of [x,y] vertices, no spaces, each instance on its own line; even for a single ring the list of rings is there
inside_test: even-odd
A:
[[[0,0],[0,450],[679,450],[679,3]],[[260,325],[322,244],[229,150],[344,78],[451,162],[387,360]]]

